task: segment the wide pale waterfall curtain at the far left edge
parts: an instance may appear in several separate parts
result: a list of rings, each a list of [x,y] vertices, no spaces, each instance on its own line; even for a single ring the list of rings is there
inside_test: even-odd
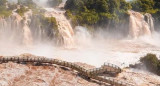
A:
[[[30,16],[31,11],[24,13],[24,18],[22,18],[16,10],[13,10],[11,16],[0,18],[0,40],[30,46],[32,44]]]

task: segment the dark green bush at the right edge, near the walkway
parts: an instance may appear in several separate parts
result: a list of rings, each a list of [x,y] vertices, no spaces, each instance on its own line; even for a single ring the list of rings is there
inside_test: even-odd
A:
[[[140,61],[148,68],[149,71],[160,75],[160,60],[155,54],[147,54]]]

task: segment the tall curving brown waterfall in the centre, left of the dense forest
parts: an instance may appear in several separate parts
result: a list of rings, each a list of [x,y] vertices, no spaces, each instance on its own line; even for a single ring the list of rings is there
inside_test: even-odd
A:
[[[45,8],[45,9],[47,10],[47,12],[45,13],[45,17],[55,17],[58,23],[58,32],[59,32],[58,44],[63,44],[64,48],[73,48],[74,31],[72,29],[70,22],[66,19],[64,15],[65,11],[54,8]]]

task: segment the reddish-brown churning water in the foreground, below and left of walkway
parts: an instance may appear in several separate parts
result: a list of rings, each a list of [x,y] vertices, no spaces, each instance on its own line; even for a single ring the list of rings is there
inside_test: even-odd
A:
[[[0,86],[100,86],[56,66],[0,64]]]

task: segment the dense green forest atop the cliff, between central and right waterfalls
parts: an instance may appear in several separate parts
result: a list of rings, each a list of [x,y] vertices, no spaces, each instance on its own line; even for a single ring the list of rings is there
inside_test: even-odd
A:
[[[132,0],[130,2],[125,0],[67,0],[65,9],[73,26],[118,29],[119,25],[128,22],[128,10],[151,13],[155,23],[160,22],[159,0]]]

